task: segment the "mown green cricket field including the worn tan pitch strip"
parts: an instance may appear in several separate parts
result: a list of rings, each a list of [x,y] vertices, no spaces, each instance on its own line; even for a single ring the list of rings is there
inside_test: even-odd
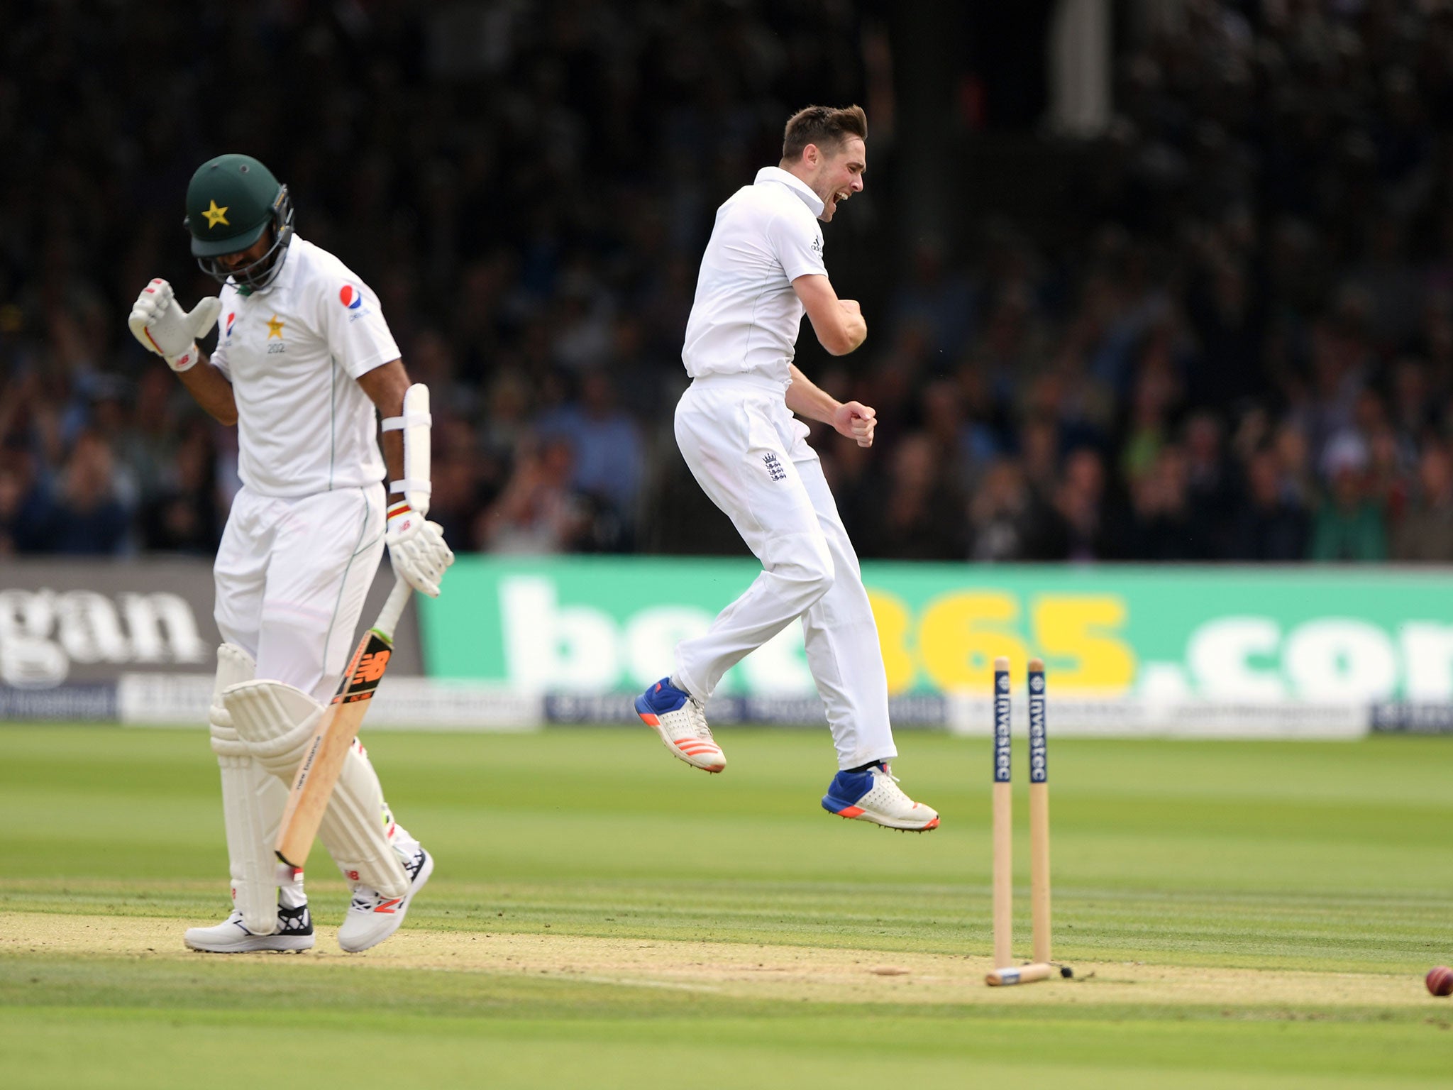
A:
[[[825,730],[719,737],[373,734],[437,857],[404,932],[341,955],[320,849],[317,950],[222,958],[180,943],[225,911],[205,735],[0,725],[4,1084],[1449,1084],[1453,738],[1053,741],[1087,978],[989,990],[988,738],[899,737],[910,836],[819,808]]]

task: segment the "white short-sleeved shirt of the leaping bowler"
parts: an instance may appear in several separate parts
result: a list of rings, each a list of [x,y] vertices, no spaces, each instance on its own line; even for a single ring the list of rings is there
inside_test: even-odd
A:
[[[822,201],[780,167],[763,167],[716,209],[681,360],[692,378],[754,372],[790,381],[804,307],[792,282],[822,265]]]

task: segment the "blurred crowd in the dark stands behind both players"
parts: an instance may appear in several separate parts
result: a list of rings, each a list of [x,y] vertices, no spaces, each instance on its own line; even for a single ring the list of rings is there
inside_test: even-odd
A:
[[[1159,9],[1109,129],[1042,137],[1061,206],[901,238],[870,163],[828,230],[869,340],[799,362],[878,410],[870,451],[814,429],[854,542],[1453,561],[1453,10]],[[234,435],[125,312],[215,291],[180,206],[221,151],[378,291],[456,549],[737,551],[670,427],[713,209],[808,102],[892,161],[892,35],[841,0],[17,4],[0,60],[0,552],[215,548]]]

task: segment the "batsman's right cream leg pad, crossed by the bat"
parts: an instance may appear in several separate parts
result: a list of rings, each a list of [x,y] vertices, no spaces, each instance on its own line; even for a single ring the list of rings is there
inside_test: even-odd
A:
[[[325,705],[291,685],[267,680],[234,685],[222,693],[222,702],[247,750],[286,785],[286,795]],[[349,748],[318,839],[353,887],[402,897],[408,892],[408,876],[389,839],[394,824],[384,805],[384,789],[359,750],[359,746]]]

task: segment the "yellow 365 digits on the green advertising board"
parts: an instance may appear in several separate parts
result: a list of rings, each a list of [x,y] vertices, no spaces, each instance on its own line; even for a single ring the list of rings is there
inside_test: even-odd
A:
[[[1016,671],[1040,655],[1059,692],[1125,692],[1135,680],[1135,653],[1123,638],[1128,619],[1119,594],[1040,594],[1029,609],[1029,638],[1017,594],[965,590],[942,594],[914,618],[897,594],[870,589],[888,692],[920,680],[940,692],[988,692],[994,660]]]

